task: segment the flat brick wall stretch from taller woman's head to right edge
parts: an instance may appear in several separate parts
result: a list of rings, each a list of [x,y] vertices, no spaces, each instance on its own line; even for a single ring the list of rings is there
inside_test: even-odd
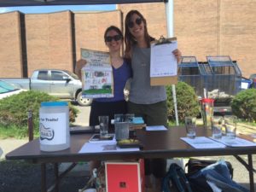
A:
[[[121,4],[124,19],[131,9],[139,10],[154,38],[166,36],[164,3]],[[256,73],[256,2],[251,0],[174,1],[174,36],[183,55],[206,61],[207,55],[230,55],[248,77]]]

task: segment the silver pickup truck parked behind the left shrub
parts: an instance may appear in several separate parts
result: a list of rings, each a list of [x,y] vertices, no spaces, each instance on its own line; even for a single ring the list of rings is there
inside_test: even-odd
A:
[[[80,106],[89,106],[92,99],[82,97],[82,82],[67,70],[38,69],[27,79],[3,79],[25,90],[40,90],[60,99],[70,99]]]

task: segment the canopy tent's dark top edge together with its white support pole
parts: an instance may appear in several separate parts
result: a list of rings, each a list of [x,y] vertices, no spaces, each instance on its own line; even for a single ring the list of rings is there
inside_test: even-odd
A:
[[[90,5],[90,4],[122,4],[122,3],[160,3],[166,5],[167,38],[173,37],[173,0],[0,0],[0,7],[50,6],[50,5]],[[175,85],[172,84],[172,96],[175,108],[176,125],[177,100]]]

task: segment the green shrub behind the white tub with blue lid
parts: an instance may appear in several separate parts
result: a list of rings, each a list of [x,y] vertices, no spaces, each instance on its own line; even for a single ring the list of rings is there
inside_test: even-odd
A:
[[[38,136],[40,104],[41,102],[49,101],[58,101],[58,98],[34,90],[3,98],[0,100],[0,127],[5,129],[8,127],[18,128],[20,129],[20,134],[26,137],[28,134],[27,112],[32,110],[34,134]],[[70,122],[75,121],[78,111],[78,109],[69,104]]]

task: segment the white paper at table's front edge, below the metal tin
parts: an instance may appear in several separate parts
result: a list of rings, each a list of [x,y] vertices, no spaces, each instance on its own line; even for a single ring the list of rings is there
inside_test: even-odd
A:
[[[140,148],[119,148],[116,143],[84,143],[79,154],[139,151]]]

